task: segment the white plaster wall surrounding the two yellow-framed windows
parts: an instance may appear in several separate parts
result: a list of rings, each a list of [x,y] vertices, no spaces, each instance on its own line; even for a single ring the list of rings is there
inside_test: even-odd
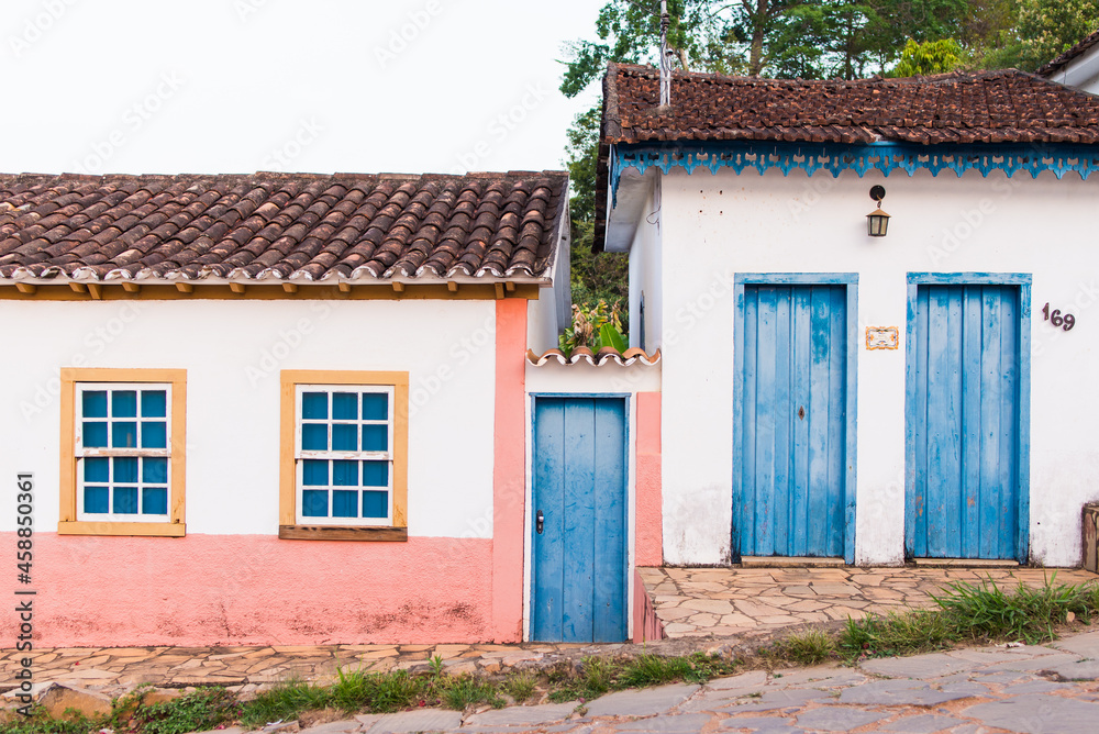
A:
[[[0,476],[56,530],[62,367],[187,370],[188,533],[278,531],[279,370],[409,371],[409,534],[491,537],[493,301],[0,301]],[[0,531],[14,513],[0,513]]]

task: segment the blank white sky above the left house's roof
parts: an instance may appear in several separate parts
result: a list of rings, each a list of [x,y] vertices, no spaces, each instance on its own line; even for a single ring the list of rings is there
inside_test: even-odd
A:
[[[4,0],[0,171],[562,168],[603,3]]]

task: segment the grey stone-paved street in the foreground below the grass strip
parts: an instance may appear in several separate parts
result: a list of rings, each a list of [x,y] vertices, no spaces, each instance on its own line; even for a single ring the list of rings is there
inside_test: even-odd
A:
[[[433,709],[362,715],[301,732],[1095,734],[1099,732],[1096,658],[1099,632],[1048,646],[879,658],[856,668],[752,670],[706,686],[611,693],[582,705],[512,707],[466,715]],[[295,723],[280,726],[281,732],[298,731]]]

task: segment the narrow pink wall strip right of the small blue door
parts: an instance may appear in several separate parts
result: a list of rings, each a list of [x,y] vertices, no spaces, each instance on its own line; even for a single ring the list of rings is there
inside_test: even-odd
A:
[[[660,492],[660,393],[637,393],[637,566],[664,564],[664,508]]]

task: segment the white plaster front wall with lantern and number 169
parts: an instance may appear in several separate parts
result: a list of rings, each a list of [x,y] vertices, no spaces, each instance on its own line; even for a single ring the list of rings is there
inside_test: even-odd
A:
[[[870,186],[887,189],[889,235],[866,235]],[[663,184],[665,556],[729,558],[734,273],[858,273],[856,563],[903,559],[904,327],[909,271],[1033,274],[1032,560],[1076,565],[1079,512],[1099,499],[1099,177],[933,178],[729,170]],[[1073,312],[1069,333],[1041,309]],[[898,326],[901,348],[862,348]],[[654,345],[655,346],[655,345]]]

